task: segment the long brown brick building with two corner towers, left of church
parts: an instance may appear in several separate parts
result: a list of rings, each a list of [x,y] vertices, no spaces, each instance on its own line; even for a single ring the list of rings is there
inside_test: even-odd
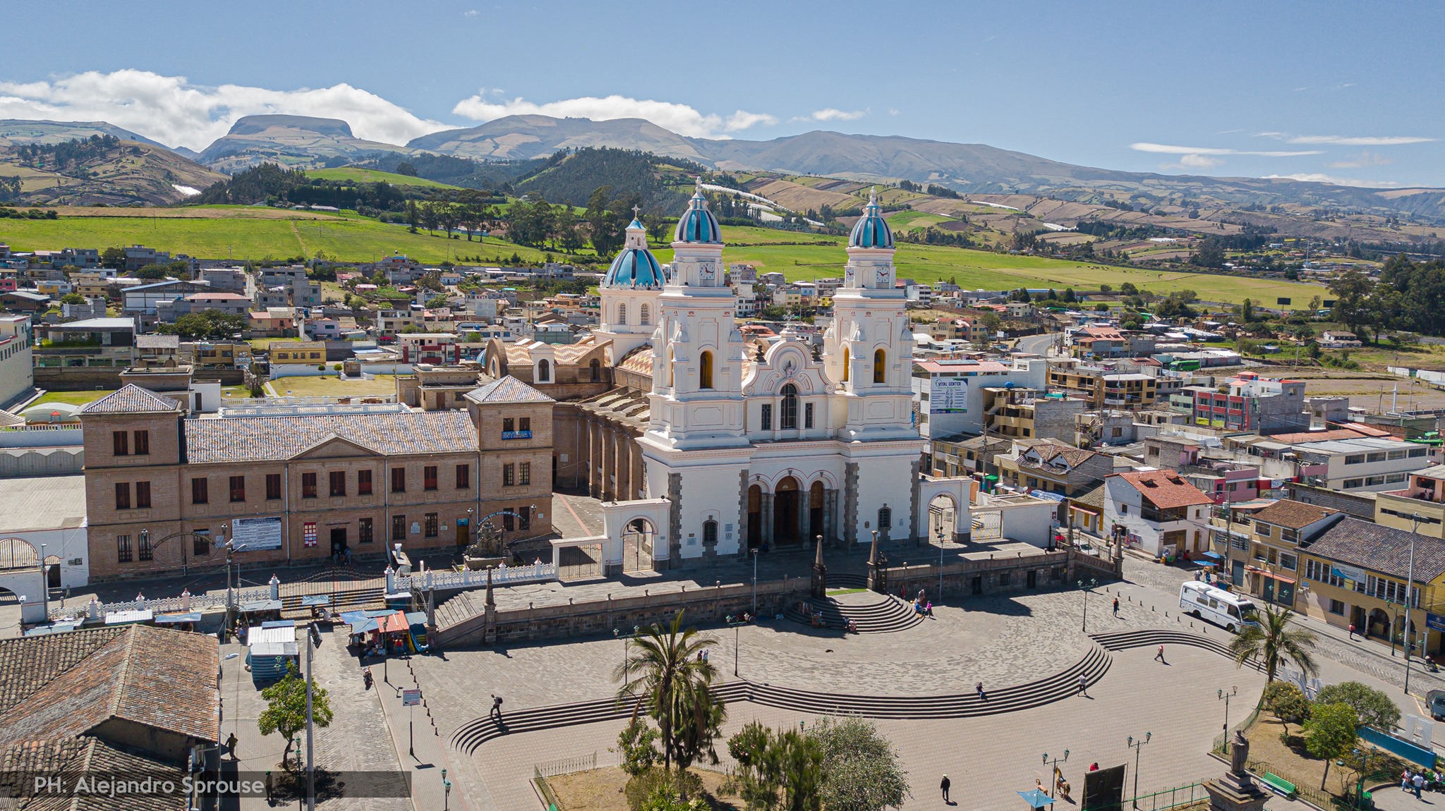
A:
[[[240,566],[270,569],[454,550],[499,511],[507,540],[548,534],[552,400],[514,378],[467,397],[465,411],[182,420],[175,401],[123,387],[79,413],[91,579],[156,576],[184,557],[218,570],[227,556],[207,538],[221,537],[244,544]]]

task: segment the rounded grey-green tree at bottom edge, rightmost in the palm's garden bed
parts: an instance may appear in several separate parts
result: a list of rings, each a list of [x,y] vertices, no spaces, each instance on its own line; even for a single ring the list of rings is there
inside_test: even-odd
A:
[[[828,811],[881,811],[909,798],[897,752],[863,719],[824,719],[811,735],[822,749],[822,804]]]

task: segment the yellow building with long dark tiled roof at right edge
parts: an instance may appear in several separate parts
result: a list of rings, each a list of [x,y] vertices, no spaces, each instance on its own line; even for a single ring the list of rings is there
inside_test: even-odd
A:
[[[1309,589],[1296,605],[1308,616],[1340,629],[1354,626],[1357,635],[1393,651],[1406,642],[1409,602],[1410,646],[1425,655],[1445,652],[1445,634],[1429,634],[1423,616],[1442,613],[1445,605],[1445,540],[1345,518],[1300,553],[1300,587]]]

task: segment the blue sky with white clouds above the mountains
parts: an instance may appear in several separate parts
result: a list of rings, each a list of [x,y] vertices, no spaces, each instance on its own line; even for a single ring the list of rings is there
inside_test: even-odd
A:
[[[201,149],[249,113],[402,143],[513,111],[902,134],[1110,169],[1445,186],[1441,3],[7,4],[3,118]],[[650,102],[650,104],[649,104]]]

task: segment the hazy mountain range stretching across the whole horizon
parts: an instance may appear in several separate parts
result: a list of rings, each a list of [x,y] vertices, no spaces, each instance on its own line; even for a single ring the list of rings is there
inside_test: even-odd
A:
[[[104,121],[0,121],[0,150],[9,144],[116,134],[156,144]],[[220,172],[263,162],[289,167],[342,166],[377,153],[434,153],[473,160],[548,157],[561,149],[618,147],[681,157],[724,172],[764,170],[821,175],[861,182],[936,183],[965,193],[1023,193],[1075,202],[1129,202],[1136,208],[1282,206],[1318,216],[1319,209],[1445,222],[1445,189],[1364,189],[1290,179],[1208,177],[1118,172],[1075,166],[987,144],[961,144],[903,136],[809,131],[767,141],[681,136],[642,118],[592,121],[549,115],[509,115],[468,128],[444,130],[389,144],[358,139],[338,118],[247,115],[202,150],[172,150]]]

